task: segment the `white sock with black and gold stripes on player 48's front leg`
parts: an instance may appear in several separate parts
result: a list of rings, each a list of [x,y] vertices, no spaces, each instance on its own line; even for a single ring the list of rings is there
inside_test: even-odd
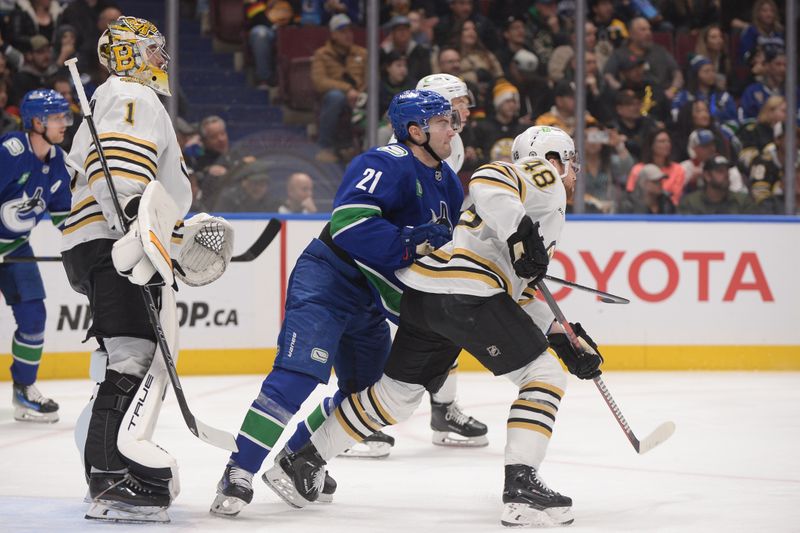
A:
[[[550,352],[505,376],[519,387],[508,415],[505,464],[538,469],[547,453],[567,376]]]

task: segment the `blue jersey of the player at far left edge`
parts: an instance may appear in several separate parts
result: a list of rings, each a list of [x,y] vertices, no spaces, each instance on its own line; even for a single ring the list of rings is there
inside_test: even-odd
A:
[[[26,133],[0,137],[0,255],[27,242],[46,212],[61,227],[70,209],[69,180],[58,146],[40,161]]]

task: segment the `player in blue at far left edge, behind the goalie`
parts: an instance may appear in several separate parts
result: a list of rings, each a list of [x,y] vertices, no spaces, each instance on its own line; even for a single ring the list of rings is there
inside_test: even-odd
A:
[[[58,404],[34,384],[46,317],[39,267],[4,260],[33,255],[28,238],[45,214],[60,229],[69,213],[69,175],[57,145],[72,115],[69,102],[53,90],[27,93],[20,112],[25,131],[0,137],[0,291],[17,323],[11,340],[14,418],[57,422]]]

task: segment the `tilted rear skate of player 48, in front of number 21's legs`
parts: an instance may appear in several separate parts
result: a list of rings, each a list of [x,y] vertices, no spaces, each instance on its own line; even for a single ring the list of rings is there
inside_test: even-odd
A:
[[[287,454],[264,472],[261,479],[283,501],[301,509],[317,501],[325,484],[325,460],[313,444]]]

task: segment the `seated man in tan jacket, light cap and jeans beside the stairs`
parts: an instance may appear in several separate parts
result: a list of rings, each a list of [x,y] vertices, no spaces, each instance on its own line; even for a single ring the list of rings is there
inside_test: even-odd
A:
[[[353,44],[351,24],[347,15],[331,17],[330,39],[311,58],[311,81],[322,98],[317,140],[322,147],[317,160],[322,162],[338,161],[334,139],[339,118],[351,113],[366,89],[367,50]]]

